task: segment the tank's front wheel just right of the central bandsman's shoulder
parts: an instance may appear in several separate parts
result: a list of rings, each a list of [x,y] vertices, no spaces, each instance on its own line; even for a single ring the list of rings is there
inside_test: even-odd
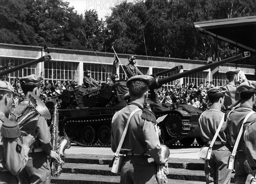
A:
[[[180,136],[182,131],[182,122],[179,116],[169,116],[166,122],[167,132],[172,137]]]

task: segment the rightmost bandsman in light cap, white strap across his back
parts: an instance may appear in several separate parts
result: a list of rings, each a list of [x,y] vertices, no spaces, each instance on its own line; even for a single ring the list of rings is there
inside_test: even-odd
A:
[[[246,80],[239,85],[237,90],[240,92],[241,105],[238,108],[230,111],[227,119],[228,136],[231,146],[234,146],[236,142],[244,118],[248,113],[253,111],[253,105],[256,103],[255,82]],[[255,119],[256,113],[253,113],[247,119],[247,122],[245,122],[244,126],[248,125],[250,122],[255,121]],[[235,171],[234,180],[236,184],[244,184],[247,175],[252,173],[252,169],[250,168],[244,153],[243,136],[241,136],[235,156]]]

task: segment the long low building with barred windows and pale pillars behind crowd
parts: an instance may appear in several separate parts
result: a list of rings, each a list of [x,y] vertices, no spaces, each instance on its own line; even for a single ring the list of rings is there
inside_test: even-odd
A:
[[[56,83],[57,80],[76,80],[79,85],[81,85],[83,82],[84,71],[87,69],[92,71],[91,76],[97,81],[101,80],[102,82],[105,82],[107,78],[110,78],[112,75],[114,61],[113,53],[62,48],[49,48],[49,50],[50,53],[47,54],[47,51],[44,51],[43,47],[0,43],[0,66],[9,62],[13,62],[14,66],[17,66],[34,59],[38,59],[44,55],[51,55],[52,57],[49,61],[41,62],[36,65],[23,68],[19,71],[15,71],[2,80],[10,82],[15,80],[16,77],[36,74],[43,76],[44,79],[53,83]],[[122,65],[128,62],[128,54],[118,54],[118,57]],[[146,57],[137,55],[136,60],[137,67],[143,74],[147,75],[164,71],[177,65],[183,65],[182,70],[165,74],[160,76],[160,78],[188,71],[207,64],[207,61],[200,60]],[[227,83],[225,73],[232,69],[236,69],[236,65],[227,63],[219,66],[219,73],[216,77],[213,77],[210,69],[208,69],[185,76],[179,80],[181,84],[194,82],[195,85],[199,85],[200,82],[204,82],[205,84],[206,81],[213,81],[214,85],[217,85],[218,82],[225,85]],[[244,71],[247,79],[254,79],[254,67],[250,65],[237,65],[237,69]],[[117,73],[119,74],[120,79],[125,79],[125,73],[122,70],[122,67],[119,67]],[[176,81],[171,81],[163,85],[163,87],[171,87],[175,84]]]

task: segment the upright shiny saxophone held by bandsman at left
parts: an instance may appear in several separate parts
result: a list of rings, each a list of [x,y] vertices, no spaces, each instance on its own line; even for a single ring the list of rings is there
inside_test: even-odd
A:
[[[67,137],[60,137],[58,139],[58,103],[53,100],[46,100],[46,102],[53,102],[54,104],[54,113],[52,115],[52,150],[55,151],[60,157],[61,157],[61,162],[58,163],[55,160],[51,160],[50,165],[51,165],[51,174],[53,178],[58,178],[61,175],[62,172],[62,165],[65,164],[65,150],[69,149],[71,147],[70,140],[67,139]]]

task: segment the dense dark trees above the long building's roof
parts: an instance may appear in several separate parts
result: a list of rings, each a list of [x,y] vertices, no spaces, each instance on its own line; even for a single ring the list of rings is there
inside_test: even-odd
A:
[[[94,10],[77,14],[63,0],[1,0],[0,42],[184,59],[222,58],[235,48],[199,34],[193,23],[256,15],[255,0],[122,1],[106,21]],[[84,36],[77,37],[83,31]],[[145,41],[144,41],[145,40]]]

